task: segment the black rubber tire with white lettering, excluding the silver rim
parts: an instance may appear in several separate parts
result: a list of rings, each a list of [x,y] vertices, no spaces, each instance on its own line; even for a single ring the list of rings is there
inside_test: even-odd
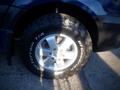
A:
[[[80,56],[78,55],[78,59],[70,67],[54,75],[54,72],[38,65],[34,50],[41,38],[51,33],[61,32],[74,39]],[[47,14],[34,20],[25,29],[22,42],[25,65],[34,74],[45,78],[63,78],[73,75],[86,64],[92,51],[92,41],[85,26],[76,18],[63,13]]]

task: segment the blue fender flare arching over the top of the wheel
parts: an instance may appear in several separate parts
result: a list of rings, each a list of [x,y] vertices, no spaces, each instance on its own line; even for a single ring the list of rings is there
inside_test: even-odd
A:
[[[61,3],[78,7],[89,13],[94,19],[98,18],[98,16],[106,15],[105,10],[97,0],[15,0],[8,10],[4,27],[11,27],[11,24],[15,24],[23,13],[29,11],[33,7],[48,4],[53,4],[55,6],[55,4],[59,5]]]

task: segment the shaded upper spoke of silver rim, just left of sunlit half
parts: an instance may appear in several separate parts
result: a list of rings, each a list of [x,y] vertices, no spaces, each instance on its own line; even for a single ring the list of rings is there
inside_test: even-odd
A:
[[[55,36],[48,37],[48,38],[46,38],[46,40],[47,40],[51,50],[57,49]]]

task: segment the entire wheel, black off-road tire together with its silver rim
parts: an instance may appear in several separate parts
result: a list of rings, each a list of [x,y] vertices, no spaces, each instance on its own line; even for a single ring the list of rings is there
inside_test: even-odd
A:
[[[63,13],[34,20],[23,35],[23,56],[27,68],[44,78],[68,77],[88,61],[92,41],[85,26]]]

